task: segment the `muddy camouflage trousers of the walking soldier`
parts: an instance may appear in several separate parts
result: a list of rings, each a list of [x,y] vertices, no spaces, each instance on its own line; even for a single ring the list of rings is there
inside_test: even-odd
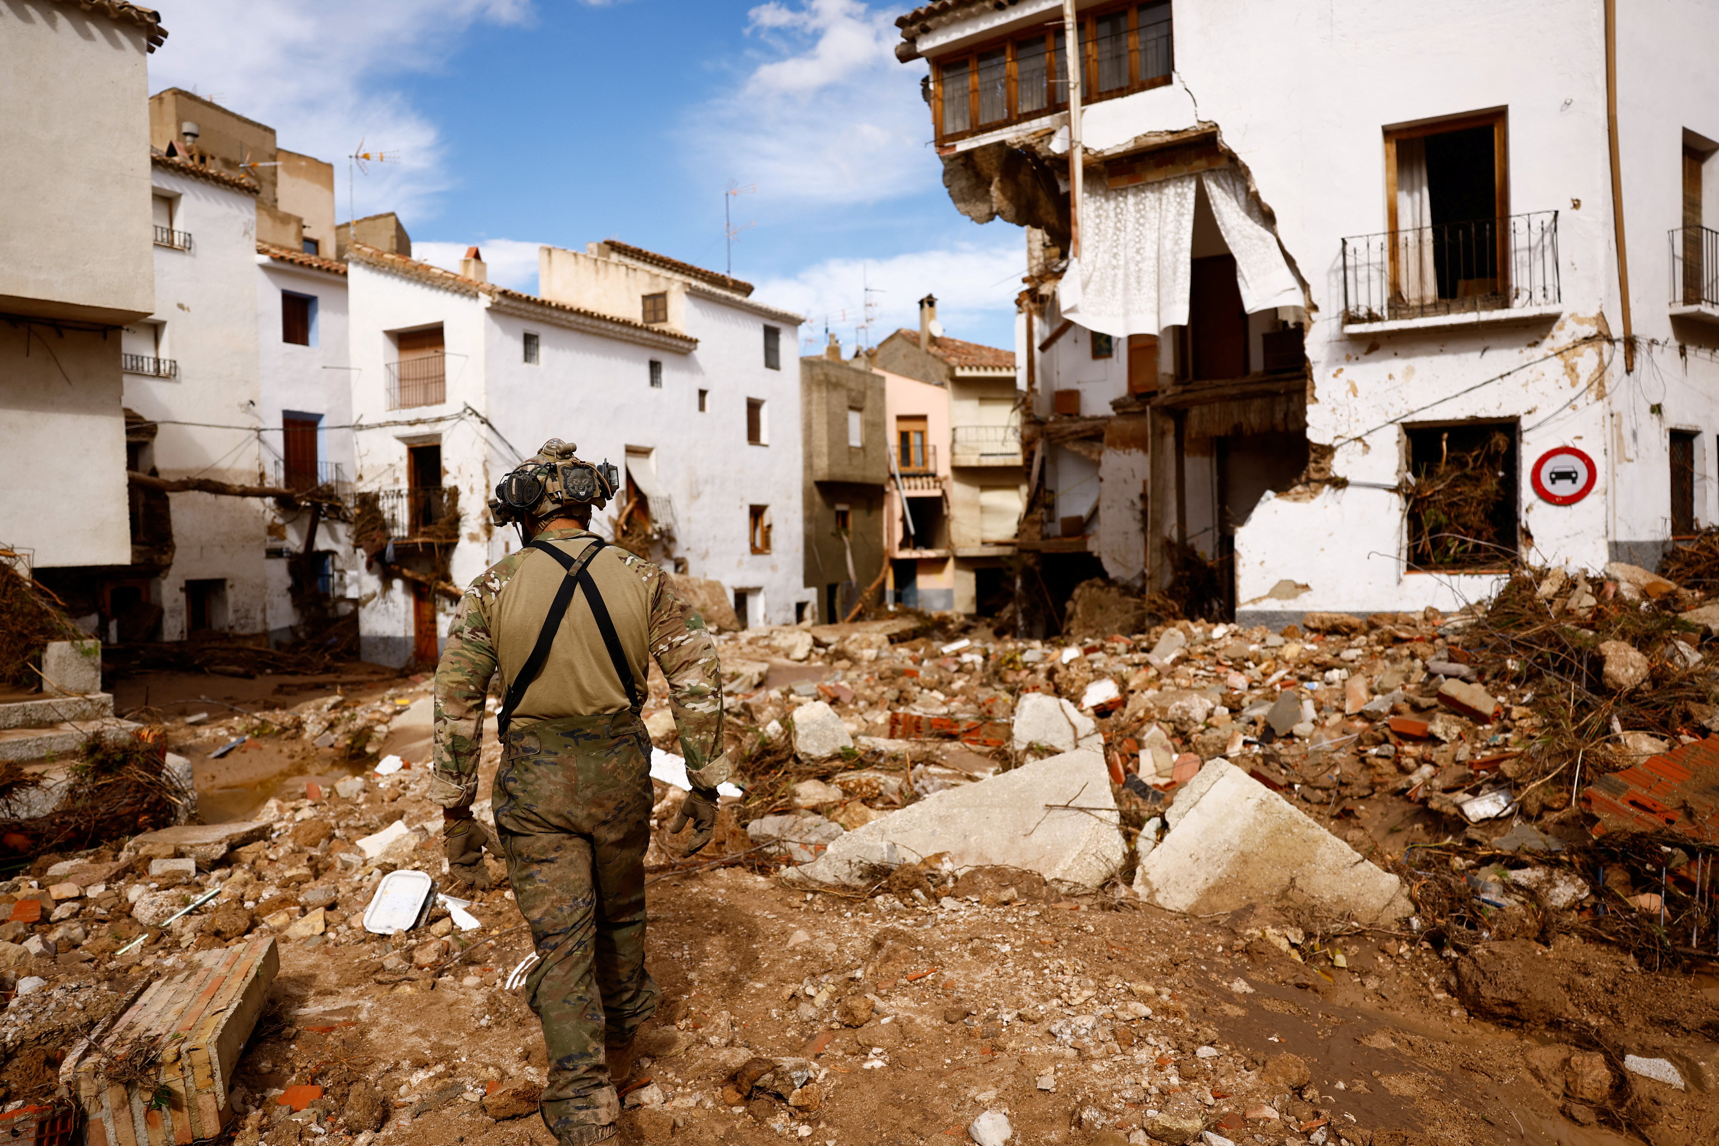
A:
[[[603,1046],[631,1041],[658,995],[645,971],[645,725],[626,710],[514,725],[493,799],[540,959],[526,990],[548,1050],[543,1122],[557,1137],[610,1125],[621,1101]]]

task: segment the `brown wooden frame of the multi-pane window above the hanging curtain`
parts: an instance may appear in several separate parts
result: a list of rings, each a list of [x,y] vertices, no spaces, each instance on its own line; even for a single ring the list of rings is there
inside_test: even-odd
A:
[[[1102,7],[1093,7],[1080,14],[1080,41],[1081,41],[1081,105],[1098,103],[1102,100],[1119,100],[1121,96],[1135,94],[1136,91],[1148,91],[1152,88],[1164,88],[1174,77],[1172,70],[1165,76],[1155,76],[1143,79],[1140,76],[1140,9],[1150,3],[1150,0],[1121,0],[1119,3],[1105,3]],[[1124,12],[1128,15],[1128,82],[1121,88],[1097,93],[1086,91],[1086,88],[1097,88],[1098,74],[1098,19]],[[966,139],[970,136],[978,136],[1012,124],[1028,122],[1035,119],[1043,119],[1054,115],[1055,112],[1067,107],[1067,93],[1057,91],[1057,33],[1062,31],[1062,19],[1057,17],[1042,26],[1038,33],[1019,31],[1011,36],[999,36],[987,40],[985,43],[966,48],[959,53],[951,53],[947,57],[939,57],[932,60],[932,127],[933,137],[939,144],[954,143],[956,139]],[[1045,41],[1045,86],[1047,101],[1045,107],[1026,112],[1019,112],[1019,53],[1016,45],[1043,38]],[[978,57],[988,55],[997,48],[1007,52],[1004,64],[1004,105],[1006,115],[1000,120],[990,124],[980,124],[978,120]],[[1176,9],[1171,7],[1171,60],[1176,58]],[[959,132],[944,132],[944,65],[947,64],[966,64],[966,100],[968,100],[968,129]],[[1061,98],[1059,98],[1061,96]]]

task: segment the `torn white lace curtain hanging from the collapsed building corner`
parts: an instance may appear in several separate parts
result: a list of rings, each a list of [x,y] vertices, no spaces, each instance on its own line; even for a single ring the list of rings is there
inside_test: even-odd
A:
[[[1062,275],[1064,318],[1114,335],[1160,335],[1188,323],[1193,210],[1205,184],[1212,216],[1236,258],[1241,304],[1251,314],[1301,306],[1301,283],[1265,225],[1246,182],[1231,168],[1109,189],[1086,184],[1081,251]]]

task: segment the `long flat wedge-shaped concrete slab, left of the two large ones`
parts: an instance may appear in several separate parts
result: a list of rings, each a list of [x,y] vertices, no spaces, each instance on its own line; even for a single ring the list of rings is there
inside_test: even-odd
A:
[[[1064,808],[1078,804],[1080,809]],[[916,804],[832,840],[815,863],[791,868],[792,887],[868,887],[875,873],[947,852],[957,871],[1009,866],[1076,890],[1100,887],[1126,845],[1100,753],[1074,751]]]

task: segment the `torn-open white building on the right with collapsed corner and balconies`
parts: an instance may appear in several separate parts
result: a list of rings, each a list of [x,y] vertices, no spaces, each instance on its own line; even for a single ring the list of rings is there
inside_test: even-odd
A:
[[[1716,21],[901,17],[951,198],[1026,229],[1021,550],[1282,624],[1714,522]]]

